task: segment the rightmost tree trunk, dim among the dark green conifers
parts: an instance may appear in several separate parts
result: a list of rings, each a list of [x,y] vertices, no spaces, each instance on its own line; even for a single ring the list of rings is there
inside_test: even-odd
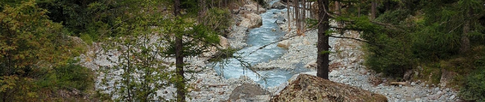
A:
[[[463,25],[463,34],[461,35],[460,52],[466,53],[470,50],[470,39],[468,33],[470,32],[470,20],[473,15],[473,11],[469,8],[468,13],[465,16],[465,25]]]

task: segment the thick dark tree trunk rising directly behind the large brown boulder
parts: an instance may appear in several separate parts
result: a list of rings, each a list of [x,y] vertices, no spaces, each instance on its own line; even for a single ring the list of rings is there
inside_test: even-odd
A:
[[[328,10],[328,0],[318,0],[318,18],[321,20],[318,24],[318,43],[317,43],[317,77],[328,79],[328,36],[326,31],[329,29],[328,15],[325,10]]]

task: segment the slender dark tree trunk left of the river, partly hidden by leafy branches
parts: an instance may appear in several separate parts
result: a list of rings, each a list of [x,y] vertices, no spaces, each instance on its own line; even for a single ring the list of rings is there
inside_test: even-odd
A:
[[[174,15],[176,17],[180,16],[180,0],[175,0],[174,2]],[[181,77],[181,81],[175,85],[175,87],[177,87],[177,102],[185,102],[185,78],[183,75],[184,56],[182,43],[182,36],[175,35],[175,66],[177,75]]]

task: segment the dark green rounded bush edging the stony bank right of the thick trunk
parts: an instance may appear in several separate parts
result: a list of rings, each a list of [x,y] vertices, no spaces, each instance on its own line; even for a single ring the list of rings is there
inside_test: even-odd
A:
[[[407,15],[404,10],[396,10],[386,12],[375,20],[392,25],[410,24],[412,22],[405,22]],[[402,31],[395,29],[402,29]],[[416,59],[411,56],[413,55],[410,46],[412,39],[409,39],[411,34],[406,33],[414,28],[395,29],[378,28],[370,33],[363,33],[360,37],[376,44],[386,45],[367,44],[364,47],[367,52],[364,64],[377,72],[400,77],[416,63]]]

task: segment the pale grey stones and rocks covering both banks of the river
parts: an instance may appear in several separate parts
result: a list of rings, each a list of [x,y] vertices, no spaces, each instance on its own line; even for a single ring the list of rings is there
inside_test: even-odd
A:
[[[227,39],[232,48],[241,49],[245,46],[247,39],[247,29],[254,28],[254,26],[259,25],[261,21],[261,16],[256,15],[254,9],[254,2],[246,2],[245,7],[241,7],[238,10],[232,10],[231,12],[238,12],[234,15],[235,25],[231,28],[231,33],[228,34]],[[260,8],[262,9],[262,8]],[[286,12],[276,13],[275,18],[279,20],[286,19],[286,21],[291,21],[286,18]],[[259,18],[259,20],[258,20]],[[282,18],[282,19],[281,19]],[[283,22],[283,23],[281,23]],[[276,21],[278,23],[278,21]],[[295,30],[288,31],[287,22],[280,21],[280,28],[287,32],[283,38],[290,37],[295,34]],[[291,26],[292,29],[294,25]],[[288,40],[283,41],[282,44],[288,48],[288,52],[283,54],[280,58],[275,60],[270,60],[268,62],[262,62],[255,65],[258,70],[270,70],[270,69],[286,69],[294,70],[296,64],[307,64],[310,70],[315,70],[314,62],[316,61],[316,42],[317,42],[317,30],[309,30],[306,36],[297,36]],[[347,32],[347,37],[358,37],[356,33]],[[421,81],[409,81],[406,82],[408,85],[398,85],[392,86],[387,85],[388,79],[383,77],[382,74],[375,73],[368,70],[362,62],[364,53],[361,51],[362,43],[356,42],[350,39],[330,39],[330,44],[332,46],[332,52],[338,52],[331,55],[331,73],[329,74],[330,80],[350,86],[360,87],[365,90],[369,90],[374,93],[385,95],[389,102],[456,102],[460,101],[459,97],[456,95],[456,91],[447,87],[436,87],[435,85],[428,85],[426,82]],[[99,48],[94,48],[99,49]],[[96,51],[92,51],[91,54],[97,54]],[[100,66],[110,66],[112,63],[106,60],[106,58],[115,58],[115,56],[108,55],[97,55],[97,58],[90,58],[92,55],[81,55],[81,65],[91,68],[98,69]],[[168,62],[175,61],[173,58],[165,59]],[[190,69],[202,69],[206,68],[206,64],[209,63],[207,58],[188,58]],[[170,68],[175,69],[175,68]],[[252,79],[241,76],[240,78],[229,78],[226,79],[222,76],[217,76],[217,73],[212,68],[206,68],[202,73],[192,73],[186,74],[187,77],[194,77],[193,80],[189,81],[189,97],[187,97],[188,102],[226,102],[232,90],[241,86],[244,83],[257,84]],[[374,81],[382,81],[380,84],[374,86]],[[273,95],[277,94],[288,83],[283,83],[280,86],[267,87],[266,90],[271,92]],[[261,85],[259,85],[261,86]],[[262,86],[261,86],[262,87]],[[174,99],[176,88],[167,87],[166,89],[161,89],[157,91],[159,96],[166,99]]]

